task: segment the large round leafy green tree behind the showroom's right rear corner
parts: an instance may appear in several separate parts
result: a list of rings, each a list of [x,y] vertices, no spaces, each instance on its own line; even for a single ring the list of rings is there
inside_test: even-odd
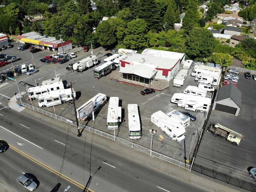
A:
[[[186,55],[191,59],[200,59],[211,55],[215,47],[215,38],[211,31],[193,27],[185,39]]]

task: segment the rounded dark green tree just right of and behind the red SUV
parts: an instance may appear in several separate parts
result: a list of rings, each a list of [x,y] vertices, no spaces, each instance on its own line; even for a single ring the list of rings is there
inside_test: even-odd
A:
[[[109,22],[103,21],[99,24],[96,28],[96,34],[98,37],[98,42],[104,48],[111,48],[114,47],[117,40],[114,33],[114,28],[109,24]]]

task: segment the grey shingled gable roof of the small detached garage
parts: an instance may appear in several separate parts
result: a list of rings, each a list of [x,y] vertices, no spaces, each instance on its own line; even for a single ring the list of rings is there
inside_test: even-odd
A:
[[[219,88],[218,96],[216,101],[221,101],[224,99],[232,99],[232,101],[241,108],[242,106],[242,92],[236,88],[232,83],[222,86]]]

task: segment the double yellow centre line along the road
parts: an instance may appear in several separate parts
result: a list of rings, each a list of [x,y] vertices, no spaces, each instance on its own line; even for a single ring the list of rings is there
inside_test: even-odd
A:
[[[56,174],[57,176],[60,176],[61,178],[65,179],[66,181],[68,181],[68,182],[70,182],[70,183],[76,185],[77,187],[79,187],[79,188],[81,188],[81,189],[85,189],[85,188],[86,188],[84,185],[82,185],[82,184],[80,184],[80,183],[78,183],[78,182],[72,180],[71,178],[69,178],[69,177],[63,175],[63,174],[60,173],[59,171],[56,171],[55,169],[53,169],[53,168],[51,168],[51,167],[45,165],[44,163],[38,161],[37,159],[35,159],[35,158],[29,156],[29,155],[26,154],[26,153],[20,151],[19,149],[15,148],[14,146],[12,146],[12,145],[9,144],[9,147],[10,147],[11,149],[13,149],[14,151],[20,153],[20,154],[23,155],[24,157],[28,158],[29,160],[33,161],[34,163],[40,165],[41,167],[43,167],[43,168],[45,168],[45,169],[51,171],[52,173]],[[89,188],[87,188],[86,191],[95,192],[95,191],[93,191],[93,190],[91,190],[91,189],[89,189]]]

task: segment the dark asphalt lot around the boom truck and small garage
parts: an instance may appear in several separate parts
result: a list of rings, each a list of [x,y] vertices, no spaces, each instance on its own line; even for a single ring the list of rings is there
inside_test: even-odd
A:
[[[240,74],[239,77],[237,86],[242,92],[242,108],[239,117],[212,111],[209,122],[226,126],[243,134],[246,139],[241,140],[238,146],[233,146],[225,139],[205,132],[195,163],[254,183],[255,181],[248,174],[247,168],[256,167],[256,81],[252,78],[246,79],[244,74]]]

